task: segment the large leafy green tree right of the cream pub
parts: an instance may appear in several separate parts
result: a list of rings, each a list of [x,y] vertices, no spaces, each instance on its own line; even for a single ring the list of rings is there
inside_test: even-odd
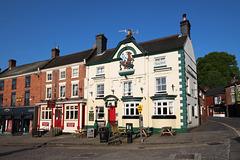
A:
[[[198,84],[216,88],[231,83],[236,77],[239,79],[240,71],[236,56],[226,52],[211,52],[197,59]]]

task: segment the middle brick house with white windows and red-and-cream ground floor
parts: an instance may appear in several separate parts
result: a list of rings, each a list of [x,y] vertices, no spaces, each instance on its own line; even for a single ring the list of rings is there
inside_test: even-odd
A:
[[[63,132],[74,132],[85,127],[85,59],[92,51],[59,56],[58,47],[52,49],[51,62],[40,71],[38,128],[61,127]]]

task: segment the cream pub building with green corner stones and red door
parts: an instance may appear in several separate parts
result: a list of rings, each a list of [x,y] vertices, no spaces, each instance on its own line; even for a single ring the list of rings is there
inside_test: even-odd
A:
[[[87,127],[133,123],[143,106],[143,126],[157,133],[164,126],[179,132],[199,125],[196,61],[190,23],[181,35],[137,43],[129,30],[116,48],[96,36],[97,50],[86,64]],[[100,47],[98,47],[100,46]]]

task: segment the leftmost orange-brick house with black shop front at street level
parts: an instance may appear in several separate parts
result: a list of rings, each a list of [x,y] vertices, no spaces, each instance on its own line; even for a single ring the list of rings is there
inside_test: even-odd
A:
[[[9,67],[0,72],[0,131],[1,133],[28,133],[32,131],[35,103],[40,101],[40,68],[49,60]]]

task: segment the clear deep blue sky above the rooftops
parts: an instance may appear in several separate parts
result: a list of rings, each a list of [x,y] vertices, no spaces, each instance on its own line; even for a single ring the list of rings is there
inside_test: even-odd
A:
[[[196,59],[213,51],[235,55],[240,64],[239,0],[0,0],[0,68],[17,66],[93,47],[99,33],[108,49],[125,39],[119,30],[138,30],[137,42],[180,34],[182,15],[191,23]],[[238,65],[240,66],[240,65]]]

